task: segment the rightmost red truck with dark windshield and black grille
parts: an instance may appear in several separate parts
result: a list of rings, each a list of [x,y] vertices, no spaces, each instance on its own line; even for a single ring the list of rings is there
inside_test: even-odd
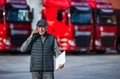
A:
[[[117,21],[112,4],[107,0],[88,0],[93,10],[94,50],[116,50]]]

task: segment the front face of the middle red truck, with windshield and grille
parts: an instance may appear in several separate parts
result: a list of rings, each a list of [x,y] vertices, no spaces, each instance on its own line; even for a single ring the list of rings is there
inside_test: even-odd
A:
[[[71,0],[70,23],[74,27],[74,39],[81,52],[93,50],[94,26],[92,8],[87,0]]]

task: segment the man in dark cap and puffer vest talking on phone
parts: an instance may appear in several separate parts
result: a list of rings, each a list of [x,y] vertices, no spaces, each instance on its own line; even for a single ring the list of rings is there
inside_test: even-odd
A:
[[[22,52],[29,50],[32,79],[54,79],[54,56],[59,56],[61,51],[54,36],[47,33],[47,22],[43,19],[37,22],[37,28],[21,46]]]

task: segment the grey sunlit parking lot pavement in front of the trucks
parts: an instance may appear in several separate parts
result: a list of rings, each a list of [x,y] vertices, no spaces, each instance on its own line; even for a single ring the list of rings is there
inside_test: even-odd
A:
[[[55,79],[119,79],[120,55],[67,55]],[[0,56],[0,79],[31,79],[30,55]]]

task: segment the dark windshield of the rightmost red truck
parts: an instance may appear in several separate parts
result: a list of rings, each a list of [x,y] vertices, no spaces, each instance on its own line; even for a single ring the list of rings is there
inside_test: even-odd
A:
[[[116,25],[116,18],[113,13],[105,13],[98,11],[96,13],[96,23],[97,25]]]

